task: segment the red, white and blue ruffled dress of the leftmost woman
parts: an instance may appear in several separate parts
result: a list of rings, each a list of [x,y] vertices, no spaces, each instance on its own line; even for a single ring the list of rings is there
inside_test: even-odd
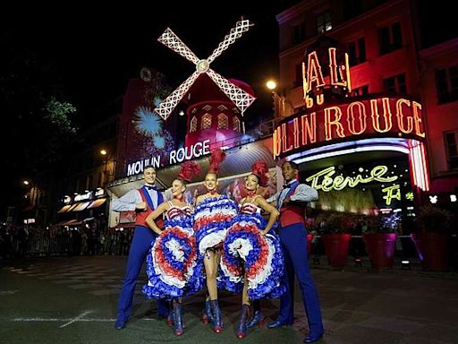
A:
[[[192,229],[191,207],[169,202],[165,230],[157,237],[147,256],[148,298],[170,300],[197,293],[203,284],[202,263]]]

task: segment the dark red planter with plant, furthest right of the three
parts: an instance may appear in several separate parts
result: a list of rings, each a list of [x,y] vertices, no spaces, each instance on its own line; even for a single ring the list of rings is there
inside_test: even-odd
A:
[[[417,233],[411,234],[423,269],[446,271],[450,258],[452,213],[433,204],[420,206],[415,218]]]

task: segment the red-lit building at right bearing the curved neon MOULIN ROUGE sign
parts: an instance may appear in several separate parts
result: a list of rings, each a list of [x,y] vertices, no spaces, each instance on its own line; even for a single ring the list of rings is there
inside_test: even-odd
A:
[[[445,49],[457,46],[423,49],[416,10],[409,1],[302,1],[276,17],[273,155],[300,166],[319,212],[398,213],[409,230],[421,203],[455,210],[458,106],[456,94],[446,97],[458,55]]]

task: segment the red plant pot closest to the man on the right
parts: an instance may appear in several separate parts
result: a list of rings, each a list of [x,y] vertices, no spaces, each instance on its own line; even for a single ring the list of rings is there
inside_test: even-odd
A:
[[[347,262],[352,218],[344,213],[327,214],[323,226],[323,244],[329,265],[341,267]]]

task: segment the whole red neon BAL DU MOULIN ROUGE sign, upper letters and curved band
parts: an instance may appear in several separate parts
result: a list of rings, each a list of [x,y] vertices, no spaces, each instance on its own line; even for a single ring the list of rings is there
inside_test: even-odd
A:
[[[355,101],[335,101],[326,106],[325,90],[352,90],[348,56],[337,62],[336,49],[328,48],[327,78],[315,51],[302,64],[304,103],[301,113],[288,116],[276,126],[273,135],[274,158],[296,150],[335,142],[371,137],[403,137],[423,141],[425,137],[420,103],[402,97],[374,97]]]

